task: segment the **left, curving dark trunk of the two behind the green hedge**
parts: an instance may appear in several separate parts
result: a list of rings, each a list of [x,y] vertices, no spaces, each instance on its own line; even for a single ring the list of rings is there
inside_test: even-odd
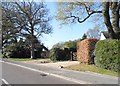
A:
[[[109,15],[109,7],[110,7],[109,2],[104,2],[103,5],[104,5],[104,9],[103,9],[104,22],[105,22],[105,25],[108,29],[109,37],[111,39],[115,39],[116,36],[115,36],[114,31],[113,31],[113,27],[112,27],[112,24],[110,21],[110,15]]]

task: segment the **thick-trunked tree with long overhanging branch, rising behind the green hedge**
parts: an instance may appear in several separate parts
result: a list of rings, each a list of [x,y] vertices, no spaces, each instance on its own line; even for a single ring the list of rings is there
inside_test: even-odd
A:
[[[101,15],[112,39],[120,38],[120,2],[60,2],[57,19],[63,23],[83,23],[90,17]],[[101,21],[98,21],[101,22]]]

